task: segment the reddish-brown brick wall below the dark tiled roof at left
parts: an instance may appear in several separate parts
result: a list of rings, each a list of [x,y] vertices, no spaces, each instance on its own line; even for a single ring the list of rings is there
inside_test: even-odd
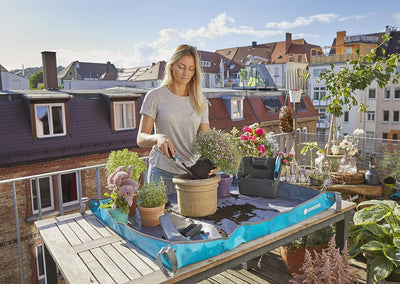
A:
[[[133,149],[140,157],[147,156],[148,149]],[[81,168],[104,164],[107,162],[109,153],[93,154],[87,156],[66,158],[54,161],[38,162],[33,164],[16,165],[0,168],[0,181],[20,178],[24,176],[44,174],[54,171]],[[97,197],[96,170],[82,171],[82,196],[89,198]],[[100,169],[101,196],[105,192],[106,177],[104,168]],[[21,236],[21,248],[23,255],[24,282],[37,282],[36,269],[36,246],[41,243],[40,236],[34,225],[32,214],[31,189],[29,181],[15,183],[16,199],[18,206],[19,229]],[[11,183],[0,184],[0,283],[21,283],[20,265],[18,258],[17,233],[14,215],[13,194]],[[59,196],[57,190],[57,178],[53,177],[53,194],[55,210],[59,209]],[[64,214],[76,212],[69,211]],[[54,216],[51,215],[51,217]],[[43,218],[48,218],[43,213]]]

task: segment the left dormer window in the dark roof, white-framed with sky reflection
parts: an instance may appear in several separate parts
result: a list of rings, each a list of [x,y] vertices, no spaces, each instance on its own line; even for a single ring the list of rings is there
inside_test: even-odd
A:
[[[65,131],[64,104],[35,104],[36,136],[63,136]]]

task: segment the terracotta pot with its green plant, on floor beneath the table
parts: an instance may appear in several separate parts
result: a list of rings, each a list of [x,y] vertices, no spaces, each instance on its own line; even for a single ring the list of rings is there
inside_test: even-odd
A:
[[[314,231],[307,236],[279,247],[281,257],[290,273],[299,273],[306,250],[321,252],[334,236],[331,226]]]

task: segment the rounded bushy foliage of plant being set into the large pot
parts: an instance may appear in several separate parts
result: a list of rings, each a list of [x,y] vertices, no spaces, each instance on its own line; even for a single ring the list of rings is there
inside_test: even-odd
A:
[[[200,132],[193,148],[200,155],[200,159],[208,159],[220,171],[233,174],[239,167],[241,158],[239,151],[221,130]]]

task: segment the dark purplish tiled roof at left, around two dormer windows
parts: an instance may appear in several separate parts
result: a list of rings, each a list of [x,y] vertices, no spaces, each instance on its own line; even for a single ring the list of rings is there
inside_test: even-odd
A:
[[[142,98],[148,90],[0,91],[0,168],[137,147],[137,129],[112,131],[107,98]],[[68,100],[70,135],[33,138],[26,100],[59,96]]]

